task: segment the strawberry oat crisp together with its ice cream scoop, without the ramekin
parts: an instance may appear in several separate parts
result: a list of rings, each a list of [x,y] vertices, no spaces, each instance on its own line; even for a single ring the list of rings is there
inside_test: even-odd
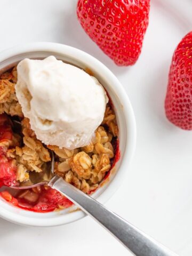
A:
[[[98,80],[50,56],[20,61],[0,86],[0,185],[26,186],[34,173],[47,175],[52,150],[55,174],[84,193],[96,190],[119,158],[116,116]],[[48,186],[0,195],[35,212],[71,206]]]

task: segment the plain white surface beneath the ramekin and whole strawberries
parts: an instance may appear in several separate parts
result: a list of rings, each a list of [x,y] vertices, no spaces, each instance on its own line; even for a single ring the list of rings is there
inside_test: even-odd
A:
[[[151,0],[142,54],[117,67],[86,36],[76,0],[0,0],[0,51],[34,41],[68,44],[105,63],[122,82],[137,121],[137,150],[122,187],[107,206],[181,256],[192,254],[192,132],[164,115],[173,51],[192,28],[190,0]],[[66,226],[22,227],[0,219],[0,255],[131,255],[86,217]],[[154,255],[155,256],[155,255]]]

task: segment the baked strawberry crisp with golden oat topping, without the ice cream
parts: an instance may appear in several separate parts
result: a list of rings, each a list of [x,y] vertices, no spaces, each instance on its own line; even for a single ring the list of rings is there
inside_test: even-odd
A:
[[[15,94],[17,68],[0,76],[0,187],[1,196],[15,206],[36,212],[65,209],[73,203],[48,186],[7,191],[29,180],[29,172],[41,173],[55,157],[54,172],[84,193],[91,194],[107,177],[118,157],[118,127],[111,103],[90,144],[69,150],[46,146],[36,138]],[[17,125],[17,122],[21,125]]]

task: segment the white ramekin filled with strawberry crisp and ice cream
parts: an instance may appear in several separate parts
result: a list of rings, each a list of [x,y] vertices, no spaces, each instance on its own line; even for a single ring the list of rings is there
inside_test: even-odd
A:
[[[44,72],[47,70],[46,65],[51,65],[49,60],[55,61],[53,67],[56,67],[56,71],[52,68],[54,74],[61,66],[65,66],[66,74],[70,77],[71,68],[74,77],[68,82],[72,80],[68,86],[70,90],[66,85],[62,91],[66,77],[61,76],[59,79],[58,75],[54,77],[53,74],[50,79],[51,73],[47,75]],[[132,108],[116,77],[89,54],[70,46],[52,43],[36,43],[12,49],[2,53],[0,61],[4,92],[0,102],[1,169],[4,172],[5,169],[9,170],[9,174],[14,173],[10,179],[2,179],[2,183],[6,186],[15,185],[17,182],[28,181],[29,172],[41,173],[51,161],[52,150],[55,155],[55,173],[84,193],[105,202],[128,171],[135,145]],[[39,78],[35,74],[41,69],[40,63],[44,63],[46,70],[41,70]],[[61,70],[61,73],[65,70]],[[75,73],[76,70],[79,74]],[[83,70],[89,70],[89,74]],[[81,84],[81,76],[82,79],[86,77],[89,88]],[[56,84],[53,78],[56,78]],[[76,85],[79,84],[82,91],[78,91],[78,87],[73,88],[75,78]],[[49,89],[49,81],[58,91]],[[38,87],[38,84],[42,86]],[[64,94],[63,99],[59,93]],[[94,97],[89,93],[94,94]],[[57,100],[55,104],[53,101],[53,105],[51,98]],[[61,109],[57,106],[61,106]],[[21,122],[21,127],[17,127],[15,121]],[[12,190],[8,192],[6,187],[1,190],[0,215],[10,221],[31,226],[54,226],[85,215],[81,211],[74,211],[76,207],[69,207],[72,203],[67,198],[47,186],[16,194]]]

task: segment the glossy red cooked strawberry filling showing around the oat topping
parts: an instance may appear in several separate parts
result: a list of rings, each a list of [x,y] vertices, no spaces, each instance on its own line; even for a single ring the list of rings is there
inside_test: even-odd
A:
[[[11,141],[13,132],[11,129],[11,123],[6,115],[0,115],[0,145],[1,142]],[[111,168],[114,167],[116,162],[120,158],[119,152],[119,142],[114,141],[115,157],[113,162],[111,162]],[[17,167],[13,165],[12,159],[6,157],[7,147],[0,146],[0,188],[2,186],[15,186]],[[109,176],[110,171],[106,174],[105,179]],[[91,191],[93,193],[94,191]],[[30,190],[29,193],[34,193]],[[90,193],[90,194],[91,194]],[[62,196],[57,190],[52,188],[45,189],[44,186],[41,187],[41,193],[38,193],[35,202],[30,202],[25,198],[20,198],[19,196],[12,196],[8,191],[0,192],[0,196],[4,198],[7,202],[14,206],[20,207],[28,211],[34,212],[51,212],[55,209],[68,208],[73,203]]]

